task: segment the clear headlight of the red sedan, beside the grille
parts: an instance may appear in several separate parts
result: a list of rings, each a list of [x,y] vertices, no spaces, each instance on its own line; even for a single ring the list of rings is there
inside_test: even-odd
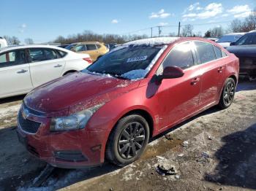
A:
[[[97,106],[83,110],[82,112],[78,112],[76,114],[69,115],[67,117],[53,118],[50,122],[50,130],[59,131],[59,130],[74,130],[74,129],[85,128],[86,123],[89,121],[91,116],[102,105],[103,104],[99,104]]]

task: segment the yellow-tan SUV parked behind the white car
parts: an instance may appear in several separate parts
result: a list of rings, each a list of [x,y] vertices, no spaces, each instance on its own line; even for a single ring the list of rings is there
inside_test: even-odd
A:
[[[86,53],[91,56],[91,60],[94,62],[100,56],[105,55],[109,50],[103,43],[100,42],[78,42],[69,44],[65,47],[68,50],[78,53]]]

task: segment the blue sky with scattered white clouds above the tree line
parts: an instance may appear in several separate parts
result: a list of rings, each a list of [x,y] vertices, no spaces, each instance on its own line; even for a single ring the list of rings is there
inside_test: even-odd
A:
[[[17,36],[23,43],[50,42],[57,36],[93,31],[97,34],[148,34],[164,26],[162,34],[178,33],[192,24],[194,32],[227,28],[233,19],[244,19],[256,0],[1,0],[0,36]],[[153,28],[158,35],[158,28]]]

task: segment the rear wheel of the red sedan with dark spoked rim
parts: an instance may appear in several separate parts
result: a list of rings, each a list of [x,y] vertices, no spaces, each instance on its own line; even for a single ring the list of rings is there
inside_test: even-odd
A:
[[[234,100],[236,93],[236,82],[233,78],[227,78],[222,90],[222,95],[219,98],[219,107],[227,109]]]

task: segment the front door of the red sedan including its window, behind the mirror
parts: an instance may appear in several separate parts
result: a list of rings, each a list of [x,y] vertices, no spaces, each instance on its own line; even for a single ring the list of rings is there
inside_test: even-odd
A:
[[[200,73],[195,70],[195,53],[190,42],[177,44],[159,66],[161,74],[167,66],[184,69],[184,76],[176,79],[163,79],[157,90],[159,102],[159,126],[172,125],[196,112],[200,97]]]

